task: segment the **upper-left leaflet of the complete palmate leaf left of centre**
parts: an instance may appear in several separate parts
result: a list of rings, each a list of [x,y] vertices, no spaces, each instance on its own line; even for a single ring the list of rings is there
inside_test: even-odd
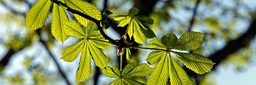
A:
[[[64,31],[67,35],[70,35],[73,37],[77,37],[77,38],[86,37],[86,35],[84,34],[84,29],[75,20],[71,20],[64,23]]]

